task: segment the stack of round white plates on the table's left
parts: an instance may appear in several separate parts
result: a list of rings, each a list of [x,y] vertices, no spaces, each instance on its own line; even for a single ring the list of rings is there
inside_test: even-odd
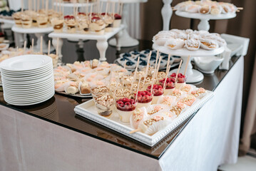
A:
[[[53,63],[49,56],[24,55],[1,62],[4,100],[35,105],[54,95]]]

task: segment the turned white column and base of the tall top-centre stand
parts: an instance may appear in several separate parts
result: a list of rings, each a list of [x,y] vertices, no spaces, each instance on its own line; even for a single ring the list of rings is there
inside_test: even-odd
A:
[[[121,47],[129,47],[129,46],[137,46],[138,45],[138,40],[136,40],[135,38],[131,38],[128,31],[127,31],[127,23],[126,23],[126,19],[128,16],[128,4],[124,3],[123,4],[123,15],[122,15],[122,24],[124,26],[123,29],[123,33],[122,36],[120,38],[120,44]],[[116,46],[116,39],[112,38],[109,42],[108,42],[111,46]]]

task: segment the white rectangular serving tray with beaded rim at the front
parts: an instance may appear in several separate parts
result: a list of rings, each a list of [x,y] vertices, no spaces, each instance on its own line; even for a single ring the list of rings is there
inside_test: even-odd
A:
[[[173,120],[173,122],[170,123],[163,130],[158,131],[152,136],[140,132],[130,134],[130,131],[133,130],[133,128],[130,127],[130,124],[122,123],[119,120],[116,111],[113,112],[110,119],[98,115],[93,100],[88,100],[87,102],[82,103],[81,105],[77,105],[74,110],[76,114],[81,115],[84,118],[93,120],[94,122],[106,126],[107,128],[111,128],[112,130],[116,130],[118,133],[126,135],[129,138],[133,138],[134,140],[138,140],[139,142],[142,142],[145,145],[153,147],[157,142],[163,140],[163,138],[165,138],[166,135],[175,130],[175,128],[177,128],[186,119],[188,119],[190,115],[193,115],[193,113],[198,111],[198,109],[202,108],[203,105],[208,100],[210,100],[210,98],[213,98],[213,92],[207,91],[206,95],[202,99],[200,99],[197,103],[190,106],[188,110],[185,110],[183,113],[181,113],[178,116],[178,118],[175,118],[175,120]]]

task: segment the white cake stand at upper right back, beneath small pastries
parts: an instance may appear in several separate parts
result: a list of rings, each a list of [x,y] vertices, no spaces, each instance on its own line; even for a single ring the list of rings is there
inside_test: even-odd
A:
[[[175,14],[177,16],[182,16],[189,19],[200,19],[200,23],[198,24],[198,30],[209,31],[210,24],[209,20],[220,20],[220,19],[232,19],[237,16],[237,14],[219,14],[219,15],[212,15],[212,14],[199,14],[199,13],[189,13],[185,11],[176,11]]]

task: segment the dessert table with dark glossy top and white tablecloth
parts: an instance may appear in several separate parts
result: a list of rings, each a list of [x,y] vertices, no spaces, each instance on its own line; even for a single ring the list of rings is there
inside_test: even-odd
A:
[[[56,94],[39,105],[16,107],[0,92],[0,170],[215,171],[234,163],[243,64],[243,56],[232,57],[229,71],[204,75],[196,86],[215,96],[153,147],[76,115],[75,106],[90,98]]]

